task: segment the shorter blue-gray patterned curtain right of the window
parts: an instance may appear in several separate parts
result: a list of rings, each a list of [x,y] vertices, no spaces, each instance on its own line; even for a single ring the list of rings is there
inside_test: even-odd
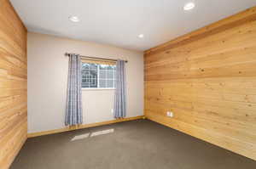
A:
[[[114,94],[113,116],[124,118],[126,116],[126,83],[125,83],[125,60],[118,59],[116,64],[116,82]]]

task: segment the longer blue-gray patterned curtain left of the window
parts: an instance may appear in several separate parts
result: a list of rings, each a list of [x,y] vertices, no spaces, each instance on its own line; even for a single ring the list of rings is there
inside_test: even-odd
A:
[[[81,59],[79,54],[69,54],[66,126],[83,123],[81,94]]]

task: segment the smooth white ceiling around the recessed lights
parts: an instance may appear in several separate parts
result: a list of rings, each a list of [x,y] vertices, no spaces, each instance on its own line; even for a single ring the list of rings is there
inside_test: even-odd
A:
[[[194,2],[192,11],[183,11]],[[28,31],[143,51],[256,5],[255,0],[11,0]],[[68,20],[79,16],[79,23]],[[143,33],[144,38],[137,36]]]

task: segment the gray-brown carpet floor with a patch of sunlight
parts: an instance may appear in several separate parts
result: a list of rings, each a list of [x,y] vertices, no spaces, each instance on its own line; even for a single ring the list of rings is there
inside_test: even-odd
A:
[[[29,138],[11,169],[255,169],[256,161],[148,120]]]

